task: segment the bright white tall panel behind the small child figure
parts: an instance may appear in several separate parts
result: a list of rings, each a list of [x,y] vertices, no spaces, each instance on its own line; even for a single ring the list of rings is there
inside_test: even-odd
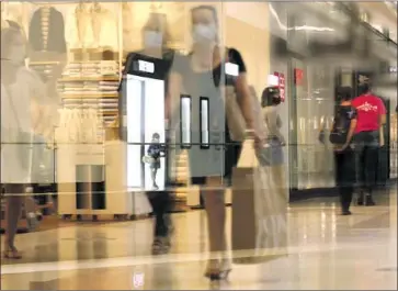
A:
[[[159,134],[164,143],[164,82],[158,79],[127,75],[126,82],[127,125],[127,187],[128,189],[152,190],[151,168],[143,163],[152,142]],[[164,158],[156,182],[164,189]]]

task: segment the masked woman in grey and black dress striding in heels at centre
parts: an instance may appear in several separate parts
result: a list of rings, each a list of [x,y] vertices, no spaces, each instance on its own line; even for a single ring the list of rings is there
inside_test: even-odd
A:
[[[174,134],[177,148],[182,147],[189,154],[192,183],[205,184],[201,193],[205,201],[212,251],[205,276],[211,279],[221,279],[231,269],[225,234],[223,181],[231,175],[240,155],[240,144],[231,141],[226,123],[223,89],[226,86],[235,87],[248,130],[254,128],[251,97],[240,53],[234,48],[226,49],[219,46],[218,18],[215,8],[196,7],[192,9],[191,18],[192,52],[189,56],[174,58],[170,74],[168,107],[172,115],[171,131]],[[191,100],[189,109],[182,108],[183,99]],[[206,137],[203,135],[202,100],[208,102]],[[189,110],[190,113],[185,114],[181,110]],[[182,120],[184,116],[189,116],[190,120],[187,122]],[[191,128],[184,132],[187,123],[191,124],[189,126]],[[190,141],[186,139],[186,135]],[[254,133],[255,136],[258,135]]]

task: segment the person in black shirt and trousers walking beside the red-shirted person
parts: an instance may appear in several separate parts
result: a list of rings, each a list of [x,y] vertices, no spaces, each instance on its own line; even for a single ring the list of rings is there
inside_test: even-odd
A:
[[[336,178],[340,193],[342,215],[350,215],[350,205],[355,184],[355,155],[351,142],[356,126],[356,111],[351,105],[352,89],[350,87],[342,87],[339,91],[340,104],[336,109],[333,128],[338,126],[338,123],[344,124],[342,125],[345,127],[343,132],[346,134],[344,134],[344,141],[341,144],[334,144]],[[333,134],[333,130],[331,134]]]

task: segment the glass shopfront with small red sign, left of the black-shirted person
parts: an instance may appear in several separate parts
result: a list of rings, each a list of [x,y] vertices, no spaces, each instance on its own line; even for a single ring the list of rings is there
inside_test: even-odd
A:
[[[289,74],[291,189],[333,187],[332,147],[319,141],[321,128],[330,127],[334,114],[332,68],[292,58]]]

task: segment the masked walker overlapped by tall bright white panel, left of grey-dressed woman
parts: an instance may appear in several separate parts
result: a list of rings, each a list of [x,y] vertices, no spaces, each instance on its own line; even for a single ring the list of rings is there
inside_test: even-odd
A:
[[[169,160],[164,101],[175,52],[168,47],[171,40],[163,13],[150,12],[140,35],[141,49],[127,55],[120,87],[121,135],[127,143],[127,186],[146,190],[156,222],[152,253],[163,254],[170,247],[168,212],[172,209],[172,194],[166,189]],[[147,155],[153,163],[141,161]]]

